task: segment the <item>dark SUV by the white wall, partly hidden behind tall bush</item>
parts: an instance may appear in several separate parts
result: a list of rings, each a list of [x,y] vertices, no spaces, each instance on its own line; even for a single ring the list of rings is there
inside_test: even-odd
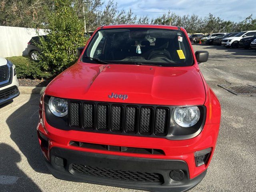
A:
[[[42,37],[46,38],[46,35],[43,35]],[[40,42],[39,40],[40,36],[32,37],[27,46],[27,53],[34,61],[37,61],[39,59],[39,55],[41,54],[40,48],[36,46],[36,44]]]

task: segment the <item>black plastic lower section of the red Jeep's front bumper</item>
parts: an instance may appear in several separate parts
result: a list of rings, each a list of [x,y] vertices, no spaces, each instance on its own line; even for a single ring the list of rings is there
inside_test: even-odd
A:
[[[58,162],[61,158],[63,164]],[[50,159],[46,165],[59,179],[152,192],[183,192],[196,186],[206,174],[205,170],[190,179],[188,166],[181,160],[115,156],[58,147],[50,150]],[[182,170],[184,178],[173,180],[170,178],[171,170]],[[105,172],[107,174],[104,175]]]

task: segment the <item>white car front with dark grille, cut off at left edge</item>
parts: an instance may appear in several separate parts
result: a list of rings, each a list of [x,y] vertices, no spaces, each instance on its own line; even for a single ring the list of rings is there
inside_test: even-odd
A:
[[[0,105],[17,97],[19,83],[15,65],[5,58],[0,58]]]

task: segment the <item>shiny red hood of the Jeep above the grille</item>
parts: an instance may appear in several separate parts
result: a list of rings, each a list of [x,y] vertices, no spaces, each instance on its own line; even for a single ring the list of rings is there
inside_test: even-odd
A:
[[[127,95],[128,98],[110,98],[112,93]],[[202,105],[206,97],[202,77],[194,66],[82,62],[52,80],[45,94],[78,100],[159,105]]]

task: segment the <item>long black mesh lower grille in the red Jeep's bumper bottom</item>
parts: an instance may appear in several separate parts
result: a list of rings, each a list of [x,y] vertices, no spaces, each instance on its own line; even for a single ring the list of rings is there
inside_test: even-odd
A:
[[[115,170],[81,164],[72,164],[71,168],[74,172],[84,176],[111,178],[127,182],[148,182],[154,184],[162,184],[164,182],[162,175],[158,173]]]

